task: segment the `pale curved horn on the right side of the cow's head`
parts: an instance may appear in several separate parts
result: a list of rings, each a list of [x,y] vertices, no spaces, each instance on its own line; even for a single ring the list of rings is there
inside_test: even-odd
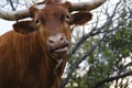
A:
[[[74,2],[72,3],[73,6],[72,11],[90,11],[90,10],[98,8],[106,1],[107,0],[92,0],[92,1],[87,1],[87,2],[76,2],[76,3]]]

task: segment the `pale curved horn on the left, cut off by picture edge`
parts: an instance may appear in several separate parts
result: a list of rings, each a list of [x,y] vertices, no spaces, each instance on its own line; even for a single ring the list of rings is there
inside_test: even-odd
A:
[[[29,9],[18,11],[4,11],[0,8],[0,18],[4,20],[16,21],[29,16],[30,16]]]

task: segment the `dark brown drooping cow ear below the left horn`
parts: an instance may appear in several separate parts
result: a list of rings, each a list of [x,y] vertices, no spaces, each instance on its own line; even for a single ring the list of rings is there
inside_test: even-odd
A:
[[[35,28],[32,23],[32,21],[21,21],[15,24],[13,24],[13,29],[15,32],[19,32],[21,34],[29,34],[33,31],[35,31]]]

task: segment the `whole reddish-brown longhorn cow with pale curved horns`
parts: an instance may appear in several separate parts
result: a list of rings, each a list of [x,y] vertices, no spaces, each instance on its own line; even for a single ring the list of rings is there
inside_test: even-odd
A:
[[[12,31],[0,36],[0,88],[58,88],[70,46],[70,25],[90,21],[89,11],[105,1],[45,0],[28,10],[0,11],[6,20],[32,18],[14,23]]]

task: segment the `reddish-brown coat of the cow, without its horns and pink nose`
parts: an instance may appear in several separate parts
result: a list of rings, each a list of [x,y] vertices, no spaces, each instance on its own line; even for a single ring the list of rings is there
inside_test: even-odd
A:
[[[73,14],[72,21],[66,20],[67,15],[73,16],[67,9],[66,4],[50,3],[31,12],[32,21],[18,22],[14,31],[0,36],[0,88],[58,88],[67,54],[48,52],[47,37],[61,33],[70,46],[70,24],[91,19],[91,13],[80,12],[76,18],[82,19],[76,20]],[[30,10],[34,11],[33,7]],[[61,58],[63,63],[56,68]]]

